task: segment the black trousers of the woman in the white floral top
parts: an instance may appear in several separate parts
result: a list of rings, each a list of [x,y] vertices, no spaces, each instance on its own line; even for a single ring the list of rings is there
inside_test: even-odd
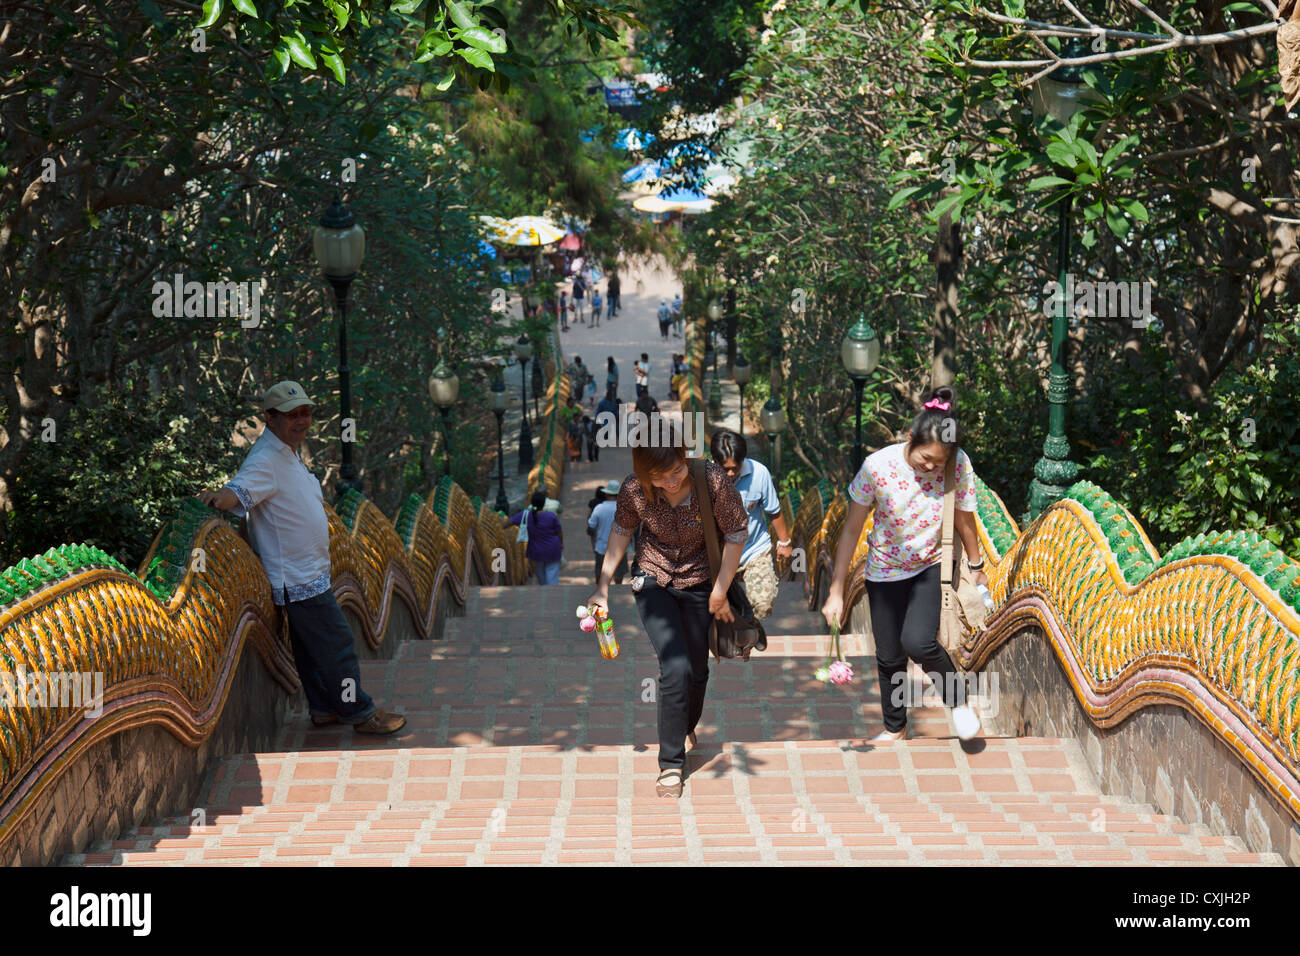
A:
[[[867,581],[871,632],[885,730],[907,726],[907,658],[920,665],[950,708],[966,702],[966,684],[939,643],[939,564],[901,581]]]

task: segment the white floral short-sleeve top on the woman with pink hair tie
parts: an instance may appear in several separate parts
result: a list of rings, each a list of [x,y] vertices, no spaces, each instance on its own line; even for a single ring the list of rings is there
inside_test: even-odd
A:
[[[907,464],[906,447],[900,442],[867,455],[849,485],[853,501],[876,510],[867,537],[868,581],[902,580],[942,561],[944,471],[916,471]],[[961,449],[956,507],[976,510],[975,470]]]

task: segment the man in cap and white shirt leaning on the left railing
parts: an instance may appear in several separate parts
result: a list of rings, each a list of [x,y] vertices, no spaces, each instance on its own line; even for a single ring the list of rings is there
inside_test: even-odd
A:
[[[402,714],[380,710],[361,689],[352,630],[330,585],[329,518],[320,481],[299,458],[312,425],[312,401],[303,386],[282,381],[261,402],[266,427],[239,472],[199,501],[238,516],[248,533],[274,602],[289,614],[294,663],[312,723],[347,723],[359,734],[393,734]]]

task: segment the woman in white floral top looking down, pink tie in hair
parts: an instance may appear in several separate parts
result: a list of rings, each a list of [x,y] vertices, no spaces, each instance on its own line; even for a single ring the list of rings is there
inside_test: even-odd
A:
[[[866,578],[885,723],[875,740],[902,740],[907,735],[904,682],[909,657],[922,666],[942,692],[944,702],[953,708],[958,736],[968,740],[979,734],[979,717],[966,705],[965,685],[939,644],[944,467],[953,453],[957,454],[953,527],[971,557],[975,583],[988,585],[975,533],[975,471],[958,442],[953,390],[935,389],[913,421],[909,441],[868,455],[849,485],[849,512],[822,614],[832,626],[840,623],[849,562],[867,514],[875,509]]]

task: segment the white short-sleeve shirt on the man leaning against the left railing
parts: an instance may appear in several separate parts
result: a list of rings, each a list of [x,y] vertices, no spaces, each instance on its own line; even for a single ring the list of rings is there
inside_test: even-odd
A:
[[[289,445],[264,428],[226,484],[248,515],[248,536],[270,579],[277,605],[306,601],[330,588],[329,516],[321,483]]]

